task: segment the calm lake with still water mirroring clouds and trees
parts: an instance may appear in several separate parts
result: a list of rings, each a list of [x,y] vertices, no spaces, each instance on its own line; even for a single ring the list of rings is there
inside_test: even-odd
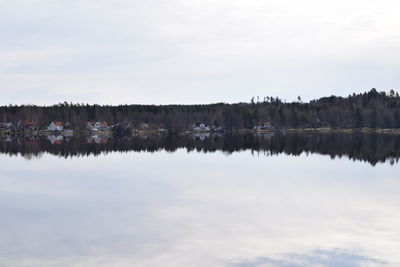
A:
[[[400,266],[400,136],[2,136],[0,266]]]

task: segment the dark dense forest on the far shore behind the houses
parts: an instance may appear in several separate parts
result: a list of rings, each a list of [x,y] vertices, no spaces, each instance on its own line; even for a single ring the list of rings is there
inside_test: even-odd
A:
[[[170,133],[189,129],[194,123],[252,129],[262,123],[275,128],[400,128],[400,96],[397,92],[369,92],[348,97],[330,96],[303,103],[286,103],[278,97],[253,98],[249,103],[207,105],[88,105],[60,103],[53,106],[8,105],[0,107],[0,122],[18,125],[31,121],[39,129],[52,121],[84,129],[88,121],[108,125],[164,128]]]

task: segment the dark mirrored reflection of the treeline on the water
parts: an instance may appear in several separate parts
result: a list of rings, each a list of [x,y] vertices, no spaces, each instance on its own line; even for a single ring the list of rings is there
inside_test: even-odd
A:
[[[168,152],[177,149],[187,151],[233,153],[251,150],[266,155],[319,153],[332,158],[347,156],[375,165],[389,160],[398,162],[400,136],[362,133],[313,133],[313,134],[227,134],[209,135],[199,138],[193,135],[137,135],[119,137],[74,136],[51,142],[44,136],[3,136],[0,152],[8,155],[23,155],[30,158],[47,152],[60,157],[99,155],[112,151]]]

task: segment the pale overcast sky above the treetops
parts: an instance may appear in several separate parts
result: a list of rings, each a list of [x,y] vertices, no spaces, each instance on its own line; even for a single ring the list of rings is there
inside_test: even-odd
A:
[[[0,0],[0,104],[192,104],[400,85],[398,0]]]

